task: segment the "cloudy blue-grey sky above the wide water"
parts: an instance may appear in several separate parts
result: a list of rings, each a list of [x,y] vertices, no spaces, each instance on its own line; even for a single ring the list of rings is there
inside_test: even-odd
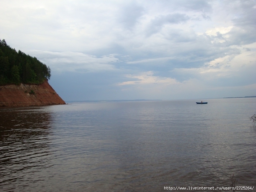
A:
[[[64,101],[256,95],[256,0],[0,4],[0,39],[48,65]]]

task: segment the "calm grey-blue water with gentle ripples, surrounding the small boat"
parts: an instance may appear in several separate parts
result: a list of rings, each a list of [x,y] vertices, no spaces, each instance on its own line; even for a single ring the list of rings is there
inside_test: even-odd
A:
[[[256,98],[207,101],[0,109],[0,191],[256,191]]]

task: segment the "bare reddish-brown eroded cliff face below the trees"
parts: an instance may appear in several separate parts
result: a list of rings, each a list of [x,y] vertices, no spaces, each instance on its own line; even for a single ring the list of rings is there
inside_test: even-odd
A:
[[[0,106],[43,106],[66,104],[49,85],[48,81],[35,84],[0,86]]]

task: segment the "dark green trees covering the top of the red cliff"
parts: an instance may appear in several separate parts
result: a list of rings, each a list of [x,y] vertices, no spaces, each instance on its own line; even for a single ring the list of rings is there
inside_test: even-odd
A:
[[[40,84],[50,79],[51,70],[35,57],[17,52],[0,39],[0,85]]]

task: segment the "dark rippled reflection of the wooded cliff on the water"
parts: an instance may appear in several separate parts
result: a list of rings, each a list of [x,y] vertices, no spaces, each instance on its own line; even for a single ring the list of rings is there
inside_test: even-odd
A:
[[[49,112],[37,110],[1,109],[0,189],[3,191],[22,191],[22,186],[44,180],[37,173],[52,166],[48,137],[51,116]]]

